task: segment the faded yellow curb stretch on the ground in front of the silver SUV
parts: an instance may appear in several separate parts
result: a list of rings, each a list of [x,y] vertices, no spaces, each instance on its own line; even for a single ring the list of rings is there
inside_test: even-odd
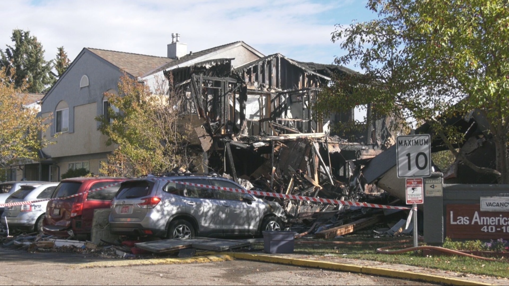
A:
[[[234,260],[229,255],[209,255],[191,258],[161,258],[161,259],[136,259],[136,260],[118,260],[118,261],[99,261],[82,263],[70,266],[71,268],[97,268],[97,267],[121,267],[121,266],[142,266],[142,265],[163,265],[163,264],[194,264],[223,262]]]

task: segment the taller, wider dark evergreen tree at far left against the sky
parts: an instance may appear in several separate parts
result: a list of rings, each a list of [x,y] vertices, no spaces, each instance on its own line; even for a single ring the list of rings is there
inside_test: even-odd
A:
[[[30,31],[14,29],[11,40],[14,46],[7,45],[0,50],[0,68],[5,68],[14,88],[26,88],[24,92],[44,92],[55,81],[51,73],[52,61],[44,59],[44,49]],[[26,85],[24,84],[26,83]]]

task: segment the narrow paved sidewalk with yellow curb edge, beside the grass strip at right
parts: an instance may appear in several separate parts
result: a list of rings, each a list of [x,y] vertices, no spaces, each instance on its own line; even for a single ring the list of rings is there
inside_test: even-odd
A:
[[[209,253],[211,254],[211,253]],[[218,254],[218,253],[216,253]],[[358,272],[393,278],[423,280],[453,285],[508,285],[509,279],[473,275],[402,264],[388,264],[377,261],[310,255],[271,255],[266,253],[222,252],[235,259],[269,263],[291,264],[329,270]]]

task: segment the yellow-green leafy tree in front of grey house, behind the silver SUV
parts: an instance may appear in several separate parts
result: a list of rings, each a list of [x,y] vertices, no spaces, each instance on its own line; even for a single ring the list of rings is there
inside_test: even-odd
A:
[[[172,81],[171,81],[172,82]],[[156,79],[154,93],[144,82],[121,77],[119,94],[105,93],[107,116],[98,116],[107,145],[118,144],[101,173],[139,176],[169,172],[186,165],[186,131],[179,124],[182,92]]]

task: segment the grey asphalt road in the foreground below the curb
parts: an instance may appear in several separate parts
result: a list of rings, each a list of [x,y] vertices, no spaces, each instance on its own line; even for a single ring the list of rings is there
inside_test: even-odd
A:
[[[87,257],[89,256],[89,257]],[[84,268],[91,262],[112,267]],[[433,285],[357,273],[233,260],[122,266],[125,259],[0,248],[1,285]],[[87,264],[88,263],[88,264]]]

